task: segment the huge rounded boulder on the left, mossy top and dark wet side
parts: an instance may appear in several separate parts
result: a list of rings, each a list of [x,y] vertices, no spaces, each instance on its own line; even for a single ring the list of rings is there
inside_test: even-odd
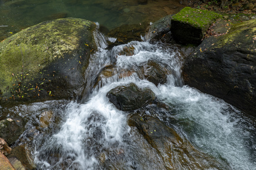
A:
[[[84,19],[57,19],[0,42],[0,103],[74,97],[97,48],[95,28]]]

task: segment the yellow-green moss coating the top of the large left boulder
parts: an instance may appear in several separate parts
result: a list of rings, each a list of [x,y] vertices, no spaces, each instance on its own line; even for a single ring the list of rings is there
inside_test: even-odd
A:
[[[42,78],[52,63],[79,57],[84,49],[96,49],[92,35],[95,28],[84,19],[57,19],[28,27],[0,42],[0,98],[14,94],[24,97],[20,91],[26,93],[35,84],[40,85],[41,81],[30,84]]]

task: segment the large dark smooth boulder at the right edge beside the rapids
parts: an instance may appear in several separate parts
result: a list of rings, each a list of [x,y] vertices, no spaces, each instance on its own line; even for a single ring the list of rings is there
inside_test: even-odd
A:
[[[228,34],[205,39],[185,59],[184,83],[256,117],[255,28],[256,19],[233,25]]]

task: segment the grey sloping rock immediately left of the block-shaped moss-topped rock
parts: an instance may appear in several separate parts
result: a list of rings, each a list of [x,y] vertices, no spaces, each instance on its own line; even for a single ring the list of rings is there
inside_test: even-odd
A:
[[[168,15],[157,21],[155,21],[150,27],[147,33],[147,39],[161,40],[162,42],[171,43],[174,42],[171,28],[171,20],[174,15]]]

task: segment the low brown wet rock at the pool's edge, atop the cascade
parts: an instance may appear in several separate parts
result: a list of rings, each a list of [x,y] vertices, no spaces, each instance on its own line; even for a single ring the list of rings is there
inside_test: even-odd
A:
[[[145,34],[147,26],[148,25],[145,23],[119,26],[110,30],[108,36],[117,38],[117,41],[114,42],[116,45],[125,44],[131,41],[142,41],[141,35]]]

